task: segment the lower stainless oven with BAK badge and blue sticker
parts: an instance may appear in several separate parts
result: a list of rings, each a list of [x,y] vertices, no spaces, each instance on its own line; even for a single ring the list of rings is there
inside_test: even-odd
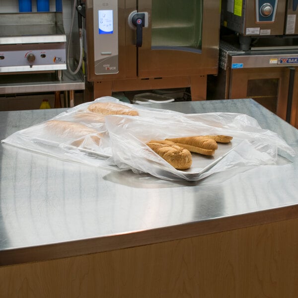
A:
[[[253,98],[295,125],[297,70],[298,47],[243,51],[222,40],[219,74],[208,83],[210,99]]]

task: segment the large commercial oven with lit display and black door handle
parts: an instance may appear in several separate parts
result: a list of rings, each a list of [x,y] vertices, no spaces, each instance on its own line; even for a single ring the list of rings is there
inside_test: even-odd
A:
[[[219,0],[86,0],[84,55],[93,96],[191,87],[217,74]]]

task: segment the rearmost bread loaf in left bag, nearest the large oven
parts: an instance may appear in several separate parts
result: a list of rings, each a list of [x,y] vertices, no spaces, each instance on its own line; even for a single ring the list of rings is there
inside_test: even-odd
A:
[[[131,115],[138,116],[137,110],[116,102],[96,102],[88,106],[88,111],[102,115]]]

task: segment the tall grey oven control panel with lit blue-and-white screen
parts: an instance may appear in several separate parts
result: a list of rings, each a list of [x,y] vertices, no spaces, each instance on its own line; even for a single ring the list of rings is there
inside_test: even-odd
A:
[[[117,74],[118,0],[93,0],[95,74]]]

